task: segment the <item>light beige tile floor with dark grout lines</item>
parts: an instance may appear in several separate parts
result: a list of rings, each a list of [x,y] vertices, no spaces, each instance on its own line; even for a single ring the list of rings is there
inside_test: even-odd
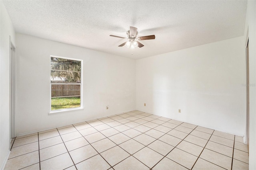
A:
[[[248,169],[242,137],[136,110],[11,144],[5,170]]]

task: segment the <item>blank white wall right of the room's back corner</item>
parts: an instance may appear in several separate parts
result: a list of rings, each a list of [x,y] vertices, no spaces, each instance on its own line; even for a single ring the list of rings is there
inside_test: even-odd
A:
[[[136,109],[243,136],[245,74],[244,37],[140,59]]]

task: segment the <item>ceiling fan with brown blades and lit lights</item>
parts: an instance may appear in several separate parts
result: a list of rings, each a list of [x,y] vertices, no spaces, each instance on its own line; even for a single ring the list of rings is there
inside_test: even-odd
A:
[[[129,41],[126,41],[125,43],[122,43],[121,45],[118,45],[118,47],[123,47],[124,45],[130,49],[134,49],[136,47],[143,47],[144,45],[142,43],[140,43],[139,41],[141,40],[147,40],[147,39],[155,39],[155,35],[147,35],[147,36],[143,36],[143,37],[138,37],[137,38],[137,28],[136,27],[130,27],[130,30],[128,30],[126,32],[127,37],[119,37],[116,35],[109,35],[111,37],[117,37],[117,38],[122,38],[122,39],[129,39]]]

